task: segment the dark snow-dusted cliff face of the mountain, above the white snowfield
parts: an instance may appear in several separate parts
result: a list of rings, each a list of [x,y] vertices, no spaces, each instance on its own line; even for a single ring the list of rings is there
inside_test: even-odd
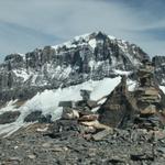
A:
[[[131,72],[147,57],[140,47],[101,32],[57,46],[8,55],[0,65],[0,100],[28,99],[37,91]]]

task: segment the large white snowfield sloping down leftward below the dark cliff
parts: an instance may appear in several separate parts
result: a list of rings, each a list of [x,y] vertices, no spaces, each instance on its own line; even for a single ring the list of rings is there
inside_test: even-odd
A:
[[[98,100],[109,95],[120,82],[120,80],[121,77],[105,78],[97,81],[88,80],[80,85],[70,86],[63,89],[45,90],[34,96],[19,109],[14,108],[14,101],[9,102],[2,111],[10,111],[13,108],[13,110],[19,110],[21,116],[13,123],[0,124],[0,134],[6,133],[7,135],[10,135],[21,127],[25,127],[26,123],[24,123],[23,120],[32,111],[41,110],[43,114],[52,114],[53,120],[59,119],[63,112],[63,108],[58,107],[59,101],[81,100],[80,89],[91,90],[91,100]]]

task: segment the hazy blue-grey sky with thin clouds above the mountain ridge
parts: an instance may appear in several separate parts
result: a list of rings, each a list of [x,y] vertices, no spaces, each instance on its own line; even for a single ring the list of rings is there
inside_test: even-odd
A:
[[[94,31],[165,55],[165,0],[0,0],[0,59]]]

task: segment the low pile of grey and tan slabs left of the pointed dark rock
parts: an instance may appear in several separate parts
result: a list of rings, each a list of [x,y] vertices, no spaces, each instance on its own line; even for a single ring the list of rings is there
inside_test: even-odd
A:
[[[81,136],[86,140],[102,140],[112,133],[112,129],[98,121],[98,114],[91,111],[77,111],[73,109],[64,110],[62,119],[57,120],[50,128],[51,138],[62,138],[73,135]]]

